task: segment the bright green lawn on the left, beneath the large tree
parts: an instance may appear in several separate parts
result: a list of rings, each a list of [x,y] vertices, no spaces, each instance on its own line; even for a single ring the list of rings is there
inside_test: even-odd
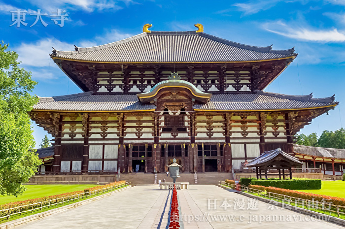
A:
[[[69,193],[99,185],[24,185],[27,190],[20,196],[1,196],[0,204],[15,202],[25,199],[34,199],[44,196],[53,196],[62,193]]]

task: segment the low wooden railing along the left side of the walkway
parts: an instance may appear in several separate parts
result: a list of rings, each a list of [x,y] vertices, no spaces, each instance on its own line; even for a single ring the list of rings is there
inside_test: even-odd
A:
[[[66,202],[69,203],[69,201],[75,201],[75,200],[80,200],[83,198],[87,198],[90,196],[95,196],[98,194],[102,194],[114,189],[122,188],[124,186],[129,185],[129,182],[119,184],[119,185],[114,185],[112,187],[107,187],[103,189],[98,189],[90,192],[85,192],[81,194],[76,194],[76,195],[70,195],[70,196],[64,196],[56,199],[50,199],[46,201],[41,201],[41,202],[36,202],[36,203],[31,203],[27,205],[21,205],[17,207],[12,207],[12,208],[6,208],[6,209],[1,209],[0,210],[0,219],[2,218],[7,218],[7,220],[10,218],[12,215],[22,215],[23,213],[26,212],[33,212],[35,210],[42,210],[42,208],[50,208],[51,206],[57,206],[58,204],[64,204]]]

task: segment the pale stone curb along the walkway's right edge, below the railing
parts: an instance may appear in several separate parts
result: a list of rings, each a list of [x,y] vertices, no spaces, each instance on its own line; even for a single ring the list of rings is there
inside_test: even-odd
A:
[[[217,186],[219,186],[219,187],[221,187],[223,189],[231,189],[231,188],[219,185],[219,184]],[[291,207],[291,209],[288,209],[288,208],[287,209],[291,210],[291,211],[294,211],[294,212],[297,212],[297,213],[302,213],[302,214],[309,215],[309,216],[312,216],[312,215],[321,216],[320,218],[323,221],[335,223],[335,224],[338,224],[338,225],[341,225],[341,226],[345,226],[345,220],[337,218],[337,217],[334,217],[334,216],[329,216],[329,215],[326,215],[326,214],[322,214],[322,213],[319,213],[319,212],[311,211],[311,210],[304,209],[304,208],[301,208],[301,207],[295,207],[295,206],[292,206],[292,205],[289,205],[289,204],[286,204],[286,203],[281,203],[281,202],[278,202],[278,201],[275,201],[275,200],[272,200],[272,199],[266,199],[266,198],[261,197],[261,196],[254,196],[254,195],[251,195],[251,194],[248,194],[248,193],[243,193],[243,192],[237,192],[237,193],[240,194],[240,195],[243,195],[243,196],[248,196],[248,197],[251,197],[251,198],[257,198],[258,200],[266,202],[266,203],[275,203],[279,207]],[[325,216],[328,218],[328,220],[324,219]],[[318,218],[318,219],[320,219],[320,218]]]

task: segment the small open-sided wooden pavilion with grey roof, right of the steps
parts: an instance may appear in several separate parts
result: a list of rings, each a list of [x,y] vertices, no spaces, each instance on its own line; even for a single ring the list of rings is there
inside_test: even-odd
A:
[[[246,164],[247,167],[256,168],[256,178],[262,179],[262,171],[265,172],[265,179],[268,178],[269,170],[275,170],[278,173],[270,173],[270,176],[281,176],[285,179],[285,169],[289,170],[290,179],[292,179],[292,167],[301,166],[297,158],[283,152],[280,148],[263,153],[259,157]]]

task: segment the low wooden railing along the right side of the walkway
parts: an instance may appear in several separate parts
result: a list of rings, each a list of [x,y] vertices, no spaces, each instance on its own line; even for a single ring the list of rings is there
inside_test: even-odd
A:
[[[228,186],[232,189],[235,188],[235,185],[227,183],[225,181],[220,182],[221,185]],[[315,201],[315,200],[310,200],[310,199],[303,199],[303,198],[298,198],[294,196],[287,196],[287,195],[282,195],[282,194],[276,194],[276,193],[271,193],[267,191],[262,191],[258,189],[252,189],[249,187],[241,186],[241,190],[243,192],[247,192],[250,194],[255,194],[257,196],[262,196],[264,198],[268,199],[274,199],[281,201],[282,203],[289,204],[292,207],[302,207],[302,208],[307,208],[311,210],[317,210],[317,212],[323,211],[323,214],[329,215],[330,212],[335,213],[339,216],[345,216],[345,206],[342,205],[335,205],[332,204],[332,202],[320,202],[320,201]],[[293,203],[294,205],[292,205]]]

